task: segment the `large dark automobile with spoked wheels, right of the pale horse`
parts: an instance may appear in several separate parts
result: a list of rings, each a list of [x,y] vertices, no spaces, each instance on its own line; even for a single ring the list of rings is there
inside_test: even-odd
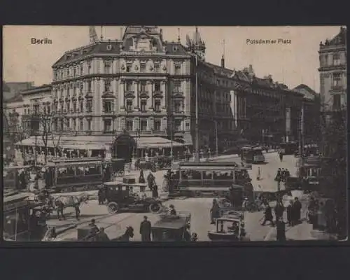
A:
[[[162,209],[161,200],[146,197],[146,195],[143,196],[142,193],[134,193],[134,190],[140,187],[146,188],[146,184],[116,181],[107,182],[100,186],[106,195],[109,213],[116,214],[121,211],[159,213]]]

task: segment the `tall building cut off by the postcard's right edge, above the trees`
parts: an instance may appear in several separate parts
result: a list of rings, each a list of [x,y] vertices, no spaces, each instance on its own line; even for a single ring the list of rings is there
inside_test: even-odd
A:
[[[320,94],[323,111],[346,106],[346,28],[331,40],[320,43]]]

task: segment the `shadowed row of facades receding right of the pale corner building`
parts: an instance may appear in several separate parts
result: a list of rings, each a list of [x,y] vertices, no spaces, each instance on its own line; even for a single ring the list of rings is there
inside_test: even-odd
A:
[[[240,138],[276,144],[297,140],[303,93],[258,78],[253,66],[241,71],[202,62],[200,76],[200,146],[218,142],[218,149]],[[207,135],[206,135],[207,134]],[[213,140],[216,138],[215,141]]]

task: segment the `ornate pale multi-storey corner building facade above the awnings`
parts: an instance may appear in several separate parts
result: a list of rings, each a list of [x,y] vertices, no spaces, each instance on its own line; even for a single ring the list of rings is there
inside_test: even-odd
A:
[[[190,139],[190,58],[153,26],[129,26],[121,41],[66,52],[52,66],[56,127],[139,138],[169,138],[171,130],[174,139]]]

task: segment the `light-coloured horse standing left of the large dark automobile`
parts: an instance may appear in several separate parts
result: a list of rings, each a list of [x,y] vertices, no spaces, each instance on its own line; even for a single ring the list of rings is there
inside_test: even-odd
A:
[[[64,219],[63,210],[67,207],[73,207],[76,211],[76,219],[79,219],[80,214],[80,204],[87,203],[89,197],[85,194],[83,195],[62,195],[59,197],[51,197],[51,202],[55,209],[57,209],[57,218],[59,219],[59,214],[62,215]]]

